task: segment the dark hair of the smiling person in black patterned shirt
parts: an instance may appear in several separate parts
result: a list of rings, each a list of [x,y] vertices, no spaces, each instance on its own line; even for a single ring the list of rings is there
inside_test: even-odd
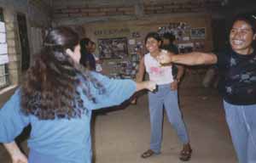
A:
[[[234,25],[234,23],[239,20],[245,21],[248,25],[252,27],[253,34],[256,33],[256,16],[254,16],[253,14],[238,14],[233,20],[232,25]]]

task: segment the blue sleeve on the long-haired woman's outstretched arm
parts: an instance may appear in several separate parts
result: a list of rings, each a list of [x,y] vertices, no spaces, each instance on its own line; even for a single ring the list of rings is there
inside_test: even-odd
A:
[[[109,79],[107,76],[94,73],[96,79],[102,83],[106,92],[100,93],[98,89],[91,88],[90,91],[96,98],[96,103],[89,101],[84,97],[85,106],[90,110],[119,105],[136,92],[136,82],[125,79]],[[92,86],[93,87],[93,86]]]

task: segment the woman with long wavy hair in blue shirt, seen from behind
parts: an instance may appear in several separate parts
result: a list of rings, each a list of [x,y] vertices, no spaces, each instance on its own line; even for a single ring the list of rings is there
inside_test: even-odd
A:
[[[49,31],[24,82],[0,110],[0,142],[14,163],[90,163],[91,111],[121,104],[154,82],[114,80],[79,65],[79,36]],[[14,139],[31,124],[28,160]]]

